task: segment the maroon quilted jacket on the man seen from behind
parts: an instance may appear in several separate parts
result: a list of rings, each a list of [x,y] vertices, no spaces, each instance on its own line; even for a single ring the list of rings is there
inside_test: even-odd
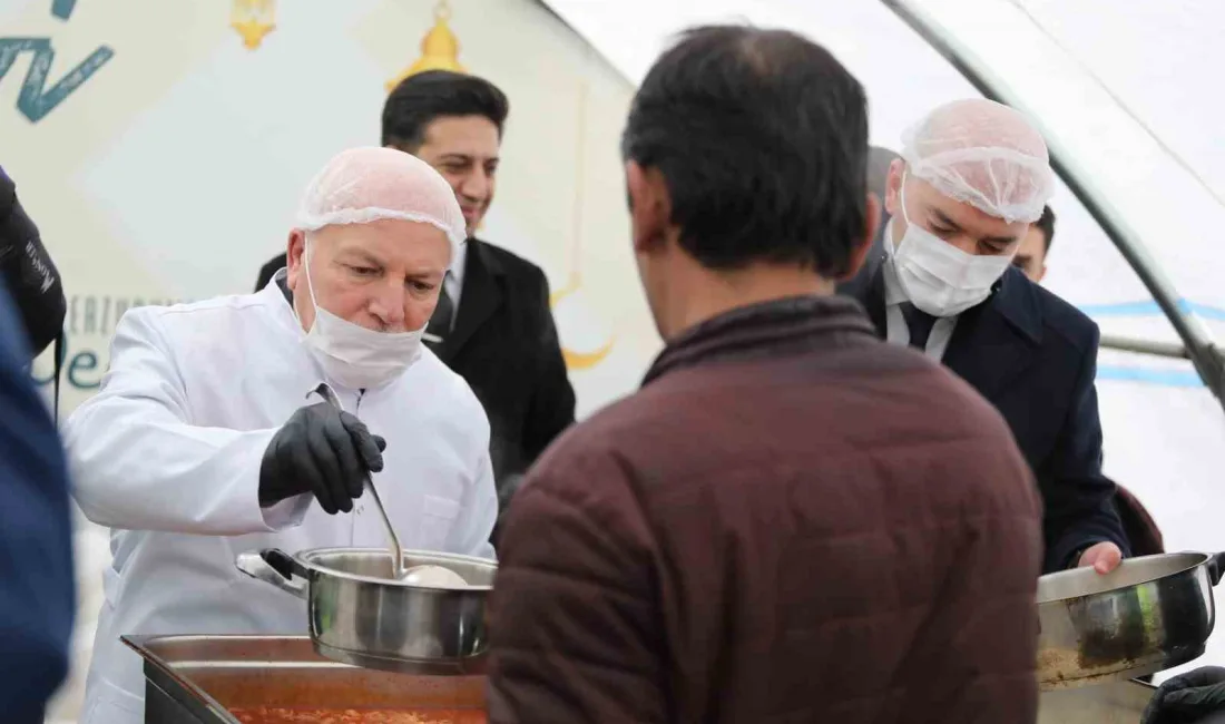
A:
[[[529,473],[490,720],[1031,724],[1040,515],[998,413],[855,301],[730,312]]]

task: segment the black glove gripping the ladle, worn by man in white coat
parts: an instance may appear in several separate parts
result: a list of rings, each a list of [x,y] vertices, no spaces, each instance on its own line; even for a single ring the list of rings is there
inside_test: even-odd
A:
[[[382,469],[387,442],[365,424],[326,402],[294,413],[277,432],[260,466],[260,505],[311,492],[328,515],[353,510],[369,473]]]

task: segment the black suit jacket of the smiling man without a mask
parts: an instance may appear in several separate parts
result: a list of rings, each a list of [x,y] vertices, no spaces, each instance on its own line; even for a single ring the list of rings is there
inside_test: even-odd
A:
[[[256,289],[284,266],[283,254],[266,263]],[[505,512],[522,473],[575,421],[575,391],[540,267],[469,239],[454,328],[434,352],[468,381],[485,407]]]

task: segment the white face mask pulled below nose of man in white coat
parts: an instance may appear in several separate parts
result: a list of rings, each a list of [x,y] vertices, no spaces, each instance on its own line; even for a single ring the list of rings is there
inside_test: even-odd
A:
[[[376,332],[327,311],[315,300],[310,260],[311,243],[307,238],[306,288],[315,307],[315,322],[306,332],[305,343],[330,381],[349,390],[379,387],[417,361],[421,355],[425,327],[414,332]]]

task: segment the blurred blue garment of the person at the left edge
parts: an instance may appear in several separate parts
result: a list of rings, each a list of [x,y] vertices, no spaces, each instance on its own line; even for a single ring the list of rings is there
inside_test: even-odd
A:
[[[76,594],[67,469],[18,323],[0,284],[0,719],[36,724],[67,673]]]

